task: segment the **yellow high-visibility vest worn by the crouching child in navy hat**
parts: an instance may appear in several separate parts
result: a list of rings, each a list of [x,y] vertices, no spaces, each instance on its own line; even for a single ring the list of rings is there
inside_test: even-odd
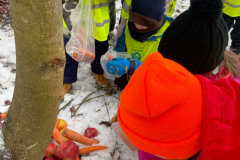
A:
[[[125,29],[125,44],[127,52],[131,54],[132,59],[138,61],[144,61],[149,54],[152,54],[155,51],[158,51],[159,43],[162,39],[163,33],[169,27],[173,18],[166,16],[166,21],[164,25],[158,30],[157,33],[149,37],[145,42],[139,42],[133,39],[130,35],[128,25]]]

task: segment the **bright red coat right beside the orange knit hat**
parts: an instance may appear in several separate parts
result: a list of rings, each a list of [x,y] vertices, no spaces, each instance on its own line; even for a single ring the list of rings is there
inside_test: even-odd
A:
[[[202,84],[202,159],[240,159],[240,85],[232,79]]]

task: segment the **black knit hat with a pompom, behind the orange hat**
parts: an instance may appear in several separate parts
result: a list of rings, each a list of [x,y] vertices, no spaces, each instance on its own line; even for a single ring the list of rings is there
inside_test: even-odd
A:
[[[158,51],[193,74],[214,70],[228,45],[222,8],[222,0],[191,0],[190,8],[165,31]]]

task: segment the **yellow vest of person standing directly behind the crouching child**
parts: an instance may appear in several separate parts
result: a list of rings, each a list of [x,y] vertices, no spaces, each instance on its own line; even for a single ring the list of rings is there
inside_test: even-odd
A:
[[[166,11],[167,16],[169,17],[172,16],[176,4],[177,4],[177,0],[172,0],[169,3],[168,11]],[[132,0],[124,0],[122,5],[122,13],[121,13],[121,17],[123,19],[127,19],[127,20],[129,19],[129,12],[131,11],[131,5],[132,5]]]

